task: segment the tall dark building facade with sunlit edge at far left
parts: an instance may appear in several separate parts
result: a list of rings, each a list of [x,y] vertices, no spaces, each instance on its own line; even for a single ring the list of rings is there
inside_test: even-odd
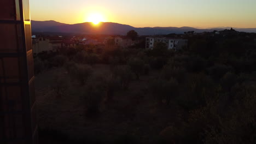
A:
[[[38,143],[28,0],[0,1],[0,143]]]

